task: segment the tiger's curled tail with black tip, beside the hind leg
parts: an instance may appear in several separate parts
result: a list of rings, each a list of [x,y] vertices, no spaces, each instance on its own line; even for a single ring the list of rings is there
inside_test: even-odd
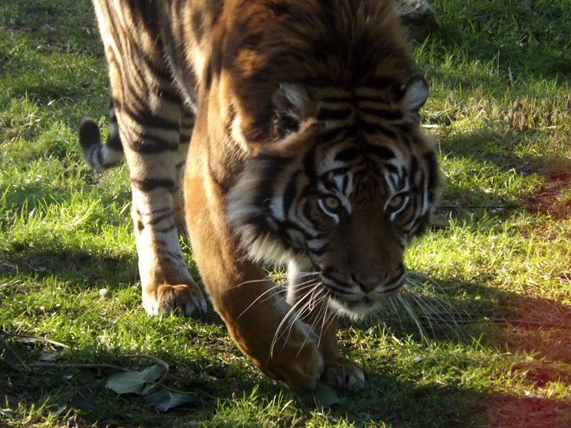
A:
[[[109,135],[106,144],[101,142],[99,125],[89,117],[84,118],[80,125],[80,144],[85,162],[97,171],[104,171],[123,163],[125,154],[113,109],[110,111]]]

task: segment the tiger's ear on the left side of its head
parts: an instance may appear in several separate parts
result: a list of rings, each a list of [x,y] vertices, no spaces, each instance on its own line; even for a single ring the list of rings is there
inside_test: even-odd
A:
[[[284,138],[300,129],[300,123],[311,114],[313,99],[302,84],[282,83],[271,97],[274,105],[273,134]]]

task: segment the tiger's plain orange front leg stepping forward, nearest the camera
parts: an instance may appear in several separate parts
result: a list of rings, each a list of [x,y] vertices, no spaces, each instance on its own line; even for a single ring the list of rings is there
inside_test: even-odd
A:
[[[292,388],[313,389],[323,370],[313,333],[295,319],[276,284],[236,250],[224,219],[223,189],[208,176],[207,165],[191,165],[206,158],[195,150],[193,137],[184,181],[186,215],[212,304],[236,345],[263,373]]]

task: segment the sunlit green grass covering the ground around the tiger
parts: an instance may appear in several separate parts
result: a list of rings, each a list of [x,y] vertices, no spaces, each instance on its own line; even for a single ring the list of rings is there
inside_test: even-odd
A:
[[[567,428],[571,4],[434,3],[441,29],[415,57],[448,186],[407,255],[433,281],[409,297],[425,337],[398,306],[345,323],[367,387],[323,409],[260,375],[215,314],[145,314],[127,170],[90,171],[77,144],[80,118],[108,105],[90,4],[3,1],[0,426]],[[193,401],[162,414],[106,389],[117,370],[102,364],[152,364],[131,353],[170,364],[163,385]]]

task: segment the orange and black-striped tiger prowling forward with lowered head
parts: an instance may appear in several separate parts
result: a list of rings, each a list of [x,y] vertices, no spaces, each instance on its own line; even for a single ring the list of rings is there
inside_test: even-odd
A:
[[[265,375],[359,388],[341,316],[380,311],[441,193],[428,84],[393,0],[93,0],[110,78],[97,169],[126,161],[143,307],[212,306]],[[183,194],[184,193],[184,194]],[[287,290],[267,274],[286,266]]]

